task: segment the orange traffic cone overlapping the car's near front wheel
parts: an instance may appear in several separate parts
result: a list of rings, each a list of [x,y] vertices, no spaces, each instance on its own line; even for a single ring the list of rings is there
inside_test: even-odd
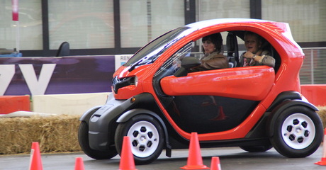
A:
[[[135,169],[135,160],[133,159],[133,152],[131,152],[130,139],[128,136],[125,136],[123,137],[119,170],[133,169]]]

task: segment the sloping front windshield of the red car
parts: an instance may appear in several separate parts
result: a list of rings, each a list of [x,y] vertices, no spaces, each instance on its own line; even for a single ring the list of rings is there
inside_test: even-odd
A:
[[[189,27],[180,27],[172,30],[159,38],[153,40],[145,47],[142,47],[133,57],[124,64],[125,67],[131,66],[131,70],[138,65],[150,64],[154,62],[162,53],[175,42],[193,31]]]

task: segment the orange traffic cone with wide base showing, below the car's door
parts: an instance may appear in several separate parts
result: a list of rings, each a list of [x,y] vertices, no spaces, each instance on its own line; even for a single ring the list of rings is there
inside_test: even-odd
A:
[[[191,133],[187,165],[180,168],[181,169],[209,169],[209,167],[203,165],[203,159],[201,157],[201,148],[199,146],[197,132]]]

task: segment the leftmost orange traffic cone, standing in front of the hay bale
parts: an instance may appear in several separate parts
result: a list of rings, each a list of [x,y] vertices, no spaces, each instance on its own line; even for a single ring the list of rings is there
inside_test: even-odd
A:
[[[38,142],[32,143],[30,150],[30,167],[29,170],[43,170],[42,159],[40,157],[40,146]]]

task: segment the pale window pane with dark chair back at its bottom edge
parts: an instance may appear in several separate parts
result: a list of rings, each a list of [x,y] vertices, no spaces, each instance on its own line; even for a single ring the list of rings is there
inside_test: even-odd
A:
[[[71,49],[113,48],[113,0],[51,0],[50,50],[64,41]]]

